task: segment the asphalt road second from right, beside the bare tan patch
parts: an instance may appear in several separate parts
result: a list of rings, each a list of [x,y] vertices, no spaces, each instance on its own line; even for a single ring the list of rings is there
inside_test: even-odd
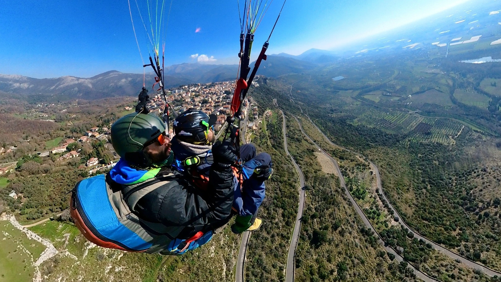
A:
[[[294,117],[296,118],[296,117]],[[298,121],[299,123],[299,128],[301,129],[301,131],[303,132],[303,134],[305,134],[305,136],[315,144],[315,146],[319,149],[319,151],[321,151],[324,155],[326,155],[331,161],[332,163],[334,164],[334,167],[336,168],[336,171],[338,173],[338,175],[340,175],[339,177],[339,181],[341,183],[341,186],[344,188],[345,190],[345,194],[346,196],[350,199],[351,203],[353,204],[353,206],[355,207],[355,210],[357,211],[358,215],[360,215],[360,217],[362,217],[362,221],[364,222],[364,224],[369,228],[371,229],[375,234],[377,234],[378,236],[378,243],[389,253],[393,253],[395,255],[395,259],[397,261],[403,261],[403,257],[398,254],[390,245],[387,245],[383,239],[381,238],[381,236],[379,235],[379,233],[376,231],[376,229],[374,228],[374,226],[372,226],[371,222],[369,221],[369,219],[367,218],[367,216],[365,216],[364,212],[362,211],[362,209],[360,208],[360,206],[358,205],[357,201],[353,198],[353,196],[351,195],[350,191],[348,190],[348,188],[346,188],[346,184],[345,184],[345,181],[344,181],[344,177],[343,177],[343,174],[341,173],[341,169],[339,168],[339,165],[338,165],[338,162],[330,155],[328,154],[326,151],[324,151],[324,149],[322,149],[317,143],[315,143],[315,141],[313,141],[312,138],[310,138],[310,136],[308,134],[306,134],[306,132],[303,130],[303,127],[301,125],[301,123],[299,122],[299,120],[296,118],[296,120]],[[317,127],[318,128],[318,127]],[[322,132],[322,131],[321,131]],[[407,264],[410,269],[412,269],[414,271],[414,274],[416,274],[416,277],[422,279],[423,281],[425,282],[438,282],[438,280],[435,280],[434,278],[428,276],[426,273],[424,272],[421,272],[420,270],[414,268],[410,263]]]

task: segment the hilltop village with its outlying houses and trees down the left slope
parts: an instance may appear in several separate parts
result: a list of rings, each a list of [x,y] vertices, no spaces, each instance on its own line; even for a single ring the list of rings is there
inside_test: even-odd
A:
[[[259,77],[258,77],[259,79]],[[259,86],[254,83],[254,86]],[[167,101],[171,104],[177,113],[189,108],[196,108],[205,111],[207,114],[214,113],[217,115],[217,121],[214,125],[214,130],[217,132],[222,128],[225,122],[226,115],[230,113],[231,97],[233,95],[234,81],[212,82],[212,83],[196,83],[189,85],[180,85],[176,88],[171,88],[167,91]],[[150,102],[147,104],[151,112],[157,111],[158,114],[163,112],[165,107],[165,98],[161,92],[150,91]],[[121,111],[117,112],[117,117],[134,111],[136,99],[129,98]],[[258,119],[258,107],[254,106],[254,100],[248,98],[244,106],[251,105],[252,111],[249,116],[252,120]],[[87,123],[79,126],[79,130],[74,129],[76,122],[82,118],[79,114],[86,106],[85,103],[77,100],[75,102],[48,103],[37,104],[35,108],[31,108],[28,113],[25,113],[27,119],[55,124],[65,124],[69,130],[61,131],[64,133],[61,136],[55,136],[52,140],[45,141],[45,147],[37,149],[35,152],[28,154],[36,155],[40,159],[40,163],[44,157],[50,157],[54,162],[66,163],[72,160],[71,163],[78,169],[86,169],[89,174],[101,173],[105,169],[109,169],[115,165],[118,160],[118,155],[110,143],[110,128],[113,120],[107,119],[107,113],[98,112],[96,117],[102,119],[100,123]],[[118,109],[120,110],[120,109]],[[174,116],[171,113],[171,121]],[[107,121],[108,122],[104,122]],[[92,124],[92,125],[89,125]],[[93,126],[94,125],[94,126]],[[97,125],[97,126],[95,126]],[[251,122],[249,125],[255,126]],[[91,127],[92,126],[92,127]],[[85,128],[82,128],[85,127]],[[70,131],[70,132],[68,132]],[[172,127],[170,129],[172,134]],[[21,139],[21,144],[30,143],[30,140]],[[19,161],[18,157],[14,156],[20,143],[4,144],[0,146],[0,155],[3,159],[12,160],[0,164],[0,174],[6,175],[15,170],[20,170],[24,161]],[[82,150],[86,153],[82,154]],[[94,153],[91,153],[94,151]],[[10,157],[9,154],[12,154]],[[76,163],[78,161],[78,163]],[[3,162],[3,161],[2,161]],[[77,165],[78,164],[78,165]]]

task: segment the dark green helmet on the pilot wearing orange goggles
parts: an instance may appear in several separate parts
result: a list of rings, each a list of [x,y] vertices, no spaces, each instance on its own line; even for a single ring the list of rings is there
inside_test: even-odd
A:
[[[153,113],[129,113],[111,125],[111,143],[118,155],[128,161],[141,158],[144,144],[165,131],[165,123]],[[139,160],[142,162],[142,160]]]

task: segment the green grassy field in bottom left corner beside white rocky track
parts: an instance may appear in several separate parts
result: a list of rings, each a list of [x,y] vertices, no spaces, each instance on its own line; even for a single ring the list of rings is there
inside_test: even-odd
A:
[[[32,263],[44,249],[44,245],[28,239],[10,222],[0,221],[0,282],[31,281],[34,274]]]

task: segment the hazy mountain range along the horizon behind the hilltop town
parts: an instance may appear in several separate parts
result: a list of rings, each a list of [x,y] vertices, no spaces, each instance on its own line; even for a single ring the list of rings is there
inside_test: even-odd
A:
[[[270,55],[261,64],[258,74],[276,77],[287,73],[300,73],[316,67],[315,63],[293,57]],[[236,64],[181,63],[165,68],[166,88],[190,83],[227,81],[236,78]],[[144,76],[146,87],[151,89],[154,73]],[[158,85],[158,84],[157,84]],[[93,77],[61,76],[57,78],[32,78],[22,75],[0,74],[0,97],[11,98],[103,98],[136,95],[143,86],[142,73],[124,73],[110,70]]]

